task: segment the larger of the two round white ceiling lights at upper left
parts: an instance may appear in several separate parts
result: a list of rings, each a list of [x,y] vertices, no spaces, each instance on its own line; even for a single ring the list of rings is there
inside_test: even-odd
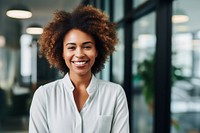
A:
[[[24,5],[15,5],[7,10],[6,15],[11,18],[27,19],[32,17],[32,12]]]

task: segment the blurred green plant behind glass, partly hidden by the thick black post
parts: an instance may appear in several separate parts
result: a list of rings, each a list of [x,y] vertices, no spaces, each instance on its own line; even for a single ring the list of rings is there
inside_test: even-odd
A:
[[[138,75],[141,77],[143,81],[143,86],[142,86],[142,93],[145,98],[145,102],[149,107],[149,111],[153,113],[154,110],[154,72],[155,72],[155,56],[151,55],[149,56],[150,58],[145,59],[143,62],[140,62],[138,64],[137,70],[138,70]],[[186,77],[182,76],[182,68],[172,66],[171,69],[171,80],[172,80],[172,85],[175,81],[177,80],[185,80]],[[172,119],[172,125],[176,128],[179,129],[178,122],[174,119]]]

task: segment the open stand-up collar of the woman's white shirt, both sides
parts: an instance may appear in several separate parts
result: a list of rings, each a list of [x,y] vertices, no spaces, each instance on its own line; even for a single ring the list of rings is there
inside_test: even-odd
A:
[[[97,78],[94,75],[92,75],[92,79],[90,80],[90,83],[86,89],[90,96],[92,96],[97,90],[97,86],[98,86],[97,81],[98,81]],[[74,90],[74,85],[72,84],[68,73],[64,76],[63,83],[65,84],[66,89],[71,90],[71,91]]]

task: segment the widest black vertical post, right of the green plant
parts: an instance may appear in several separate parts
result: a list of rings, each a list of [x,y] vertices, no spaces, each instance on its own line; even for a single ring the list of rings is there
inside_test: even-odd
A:
[[[157,2],[154,133],[170,133],[172,1]]]

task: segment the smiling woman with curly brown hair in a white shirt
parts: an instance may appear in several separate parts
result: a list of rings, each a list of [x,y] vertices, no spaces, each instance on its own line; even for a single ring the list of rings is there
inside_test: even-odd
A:
[[[99,9],[79,6],[55,13],[39,46],[65,76],[34,93],[30,133],[129,133],[123,88],[94,76],[116,44],[115,25]]]

